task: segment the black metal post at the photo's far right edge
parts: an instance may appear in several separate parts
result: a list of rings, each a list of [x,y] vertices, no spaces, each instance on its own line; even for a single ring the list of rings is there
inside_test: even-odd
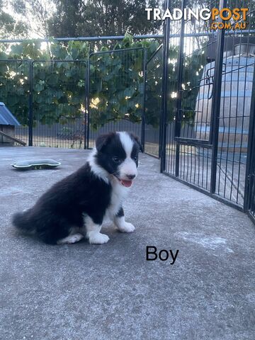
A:
[[[254,65],[255,66],[255,65]],[[246,173],[245,173],[245,183],[244,183],[244,211],[248,211],[251,206],[251,200],[255,201],[255,198],[251,197],[251,181],[250,176],[255,174],[255,67],[254,67],[254,77],[252,84],[252,94],[251,94],[251,111],[249,118],[249,137],[247,145],[247,162],[246,162]]]

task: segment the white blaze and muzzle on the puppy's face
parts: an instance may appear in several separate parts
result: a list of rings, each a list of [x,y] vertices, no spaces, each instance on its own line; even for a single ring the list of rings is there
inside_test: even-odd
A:
[[[131,158],[132,148],[134,146],[134,142],[132,141],[128,132],[117,132],[120,136],[120,142],[123,145],[123,149],[126,153],[125,161],[120,164],[120,179],[128,180],[127,175],[135,175],[137,176],[137,166],[135,161]]]

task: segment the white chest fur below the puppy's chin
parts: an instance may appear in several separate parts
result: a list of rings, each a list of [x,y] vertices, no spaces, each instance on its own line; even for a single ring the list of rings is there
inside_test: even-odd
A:
[[[122,186],[117,179],[111,180],[112,193],[111,193],[111,203],[106,210],[106,217],[113,218],[120,210],[123,200],[128,195],[130,188]]]

